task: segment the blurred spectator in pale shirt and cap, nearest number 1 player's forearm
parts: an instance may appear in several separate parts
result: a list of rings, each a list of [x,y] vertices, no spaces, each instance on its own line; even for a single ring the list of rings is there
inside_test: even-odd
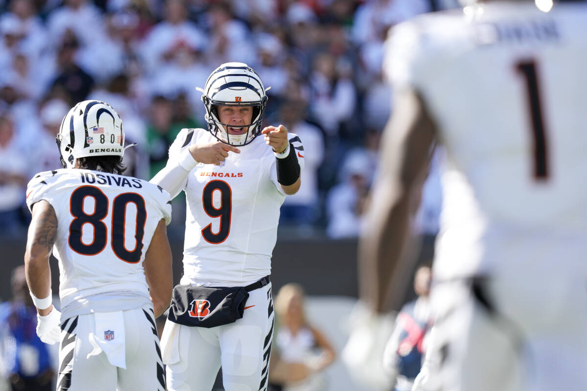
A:
[[[330,190],[326,199],[326,233],[333,239],[359,236],[372,175],[369,161],[358,154],[347,159],[342,170],[343,181]]]

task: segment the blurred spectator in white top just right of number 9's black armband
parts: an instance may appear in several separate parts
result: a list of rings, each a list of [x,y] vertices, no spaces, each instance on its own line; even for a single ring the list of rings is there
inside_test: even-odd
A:
[[[285,127],[302,140],[304,149],[297,152],[305,157],[302,185],[297,193],[285,198],[279,223],[297,225],[301,232],[313,225],[318,216],[318,168],[324,158],[324,135],[318,127],[305,121],[306,111],[305,101],[288,100],[282,104],[279,116]]]

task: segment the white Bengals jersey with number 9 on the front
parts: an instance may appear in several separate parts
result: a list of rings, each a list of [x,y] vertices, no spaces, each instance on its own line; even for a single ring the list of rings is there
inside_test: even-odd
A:
[[[288,134],[303,169],[299,137]],[[204,129],[183,129],[169,149],[177,161],[191,144],[216,142]],[[248,284],[271,273],[279,208],[285,193],[277,182],[275,155],[257,137],[229,152],[220,166],[198,164],[184,184],[187,199],[184,276],[181,284]]]

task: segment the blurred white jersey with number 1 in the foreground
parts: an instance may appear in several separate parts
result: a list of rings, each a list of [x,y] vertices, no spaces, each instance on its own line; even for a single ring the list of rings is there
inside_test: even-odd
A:
[[[446,146],[437,278],[587,251],[587,6],[491,2],[392,30],[384,71]]]

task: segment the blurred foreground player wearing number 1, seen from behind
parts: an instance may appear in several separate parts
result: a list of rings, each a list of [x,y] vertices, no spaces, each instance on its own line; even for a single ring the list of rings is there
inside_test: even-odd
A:
[[[386,42],[396,104],[360,243],[362,297],[375,314],[399,310],[410,203],[441,142],[430,382],[585,389],[587,5],[469,3]]]

